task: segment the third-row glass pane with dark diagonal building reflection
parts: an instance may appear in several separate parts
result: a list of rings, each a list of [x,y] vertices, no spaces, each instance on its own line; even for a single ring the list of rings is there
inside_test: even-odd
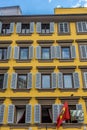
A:
[[[26,75],[18,75],[18,88],[27,88],[27,76]]]

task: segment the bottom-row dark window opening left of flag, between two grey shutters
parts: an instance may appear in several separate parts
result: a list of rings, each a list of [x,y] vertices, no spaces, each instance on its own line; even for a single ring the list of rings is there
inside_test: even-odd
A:
[[[41,122],[42,123],[52,123],[52,106],[42,105],[41,106]]]

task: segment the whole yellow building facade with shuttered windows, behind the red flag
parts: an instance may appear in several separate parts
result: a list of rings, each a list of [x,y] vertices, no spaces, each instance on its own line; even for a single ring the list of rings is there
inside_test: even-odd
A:
[[[87,129],[87,8],[54,12],[0,16],[0,130]]]

